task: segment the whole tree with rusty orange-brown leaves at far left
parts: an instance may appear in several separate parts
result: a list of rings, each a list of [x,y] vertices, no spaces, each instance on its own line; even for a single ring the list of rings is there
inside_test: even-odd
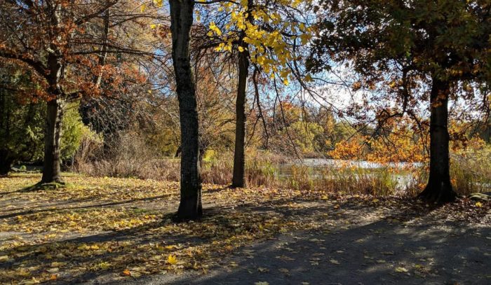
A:
[[[41,183],[62,182],[60,140],[67,100],[78,97],[83,90],[93,92],[92,85],[78,81],[77,75],[82,72],[73,67],[80,68],[87,62],[81,55],[90,54],[81,50],[87,41],[81,35],[86,35],[84,28],[90,20],[118,0],[102,4],[77,2],[4,1],[0,6],[4,27],[0,31],[0,57],[34,71],[34,80],[42,86],[41,97],[47,101]]]

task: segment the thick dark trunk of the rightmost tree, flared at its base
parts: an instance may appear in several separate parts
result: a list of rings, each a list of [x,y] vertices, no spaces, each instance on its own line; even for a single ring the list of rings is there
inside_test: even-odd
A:
[[[419,197],[429,202],[452,202],[457,197],[450,182],[450,153],[448,144],[449,83],[433,78],[430,118],[429,181]]]

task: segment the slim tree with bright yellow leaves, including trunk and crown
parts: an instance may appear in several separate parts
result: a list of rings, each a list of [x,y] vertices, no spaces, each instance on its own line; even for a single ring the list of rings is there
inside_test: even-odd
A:
[[[260,71],[272,80],[280,78],[284,85],[288,85],[294,77],[292,69],[295,64],[292,62],[300,60],[296,54],[298,46],[300,43],[307,43],[311,29],[306,21],[302,21],[304,18],[297,17],[302,14],[302,1],[217,2],[220,4],[216,11],[208,12],[214,19],[209,23],[208,36],[217,46],[215,51],[237,53],[236,139],[231,186],[244,187],[247,122],[245,106],[249,67],[254,67],[255,76]],[[253,81],[256,85],[255,76]],[[259,94],[255,96],[255,103],[265,127]]]

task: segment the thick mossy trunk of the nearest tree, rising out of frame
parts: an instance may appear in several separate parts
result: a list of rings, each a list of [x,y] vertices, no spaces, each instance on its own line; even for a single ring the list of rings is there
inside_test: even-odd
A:
[[[199,174],[199,121],[196,91],[191,71],[189,42],[193,24],[193,0],[169,0],[173,65],[179,99],[181,125],[181,201],[177,220],[194,220],[203,215]]]

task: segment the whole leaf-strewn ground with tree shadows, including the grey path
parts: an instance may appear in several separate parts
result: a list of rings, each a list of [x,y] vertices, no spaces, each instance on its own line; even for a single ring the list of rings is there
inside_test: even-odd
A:
[[[65,177],[0,179],[0,284],[491,282],[489,202],[206,185],[175,224],[177,183]]]

